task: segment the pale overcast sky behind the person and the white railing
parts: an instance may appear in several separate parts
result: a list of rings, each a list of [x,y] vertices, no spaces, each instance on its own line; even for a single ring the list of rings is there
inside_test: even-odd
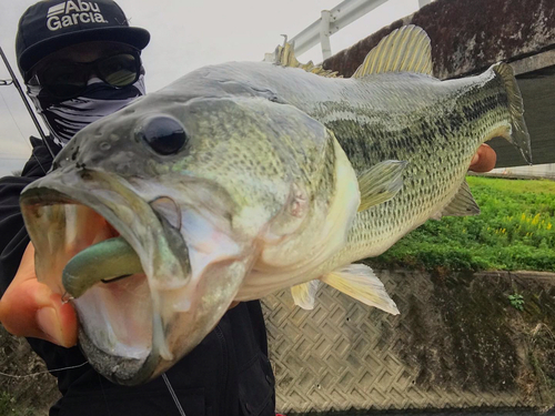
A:
[[[0,0],[0,45],[17,71],[14,39],[20,16],[34,0]],[[60,1],[61,2],[61,1]],[[147,90],[155,91],[206,64],[260,61],[341,0],[118,0],[131,26],[152,35],[143,52]],[[390,0],[331,38],[332,53],[390,22],[413,13],[417,0]],[[322,61],[320,45],[300,57]],[[18,72],[19,75],[19,72]],[[0,61],[0,79],[9,79]],[[0,176],[22,168],[30,154],[29,135],[38,135],[16,88],[0,87]]]

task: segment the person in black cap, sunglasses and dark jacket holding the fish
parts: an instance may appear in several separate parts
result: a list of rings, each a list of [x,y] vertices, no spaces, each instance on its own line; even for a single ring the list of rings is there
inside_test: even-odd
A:
[[[18,65],[56,153],[88,123],[144,94],[140,53],[149,39],[147,30],[129,27],[110,0],[41,1],[26,11],[17,37]],[[31,140],[33,156],[22,175],[0,180],[0,321],[11,333],[28,337],[49,369],[59,369],[87,359],[77,346],[72,304],[34,274],[19,194],[46,174],[52,158],[42,141]],[[130,388],[100,377],[90,365],[52,374],[63,397],[51,415],[179,414],[161,377]],[[260,302],[231,308],[167,377],[188,416],[246,415],[248,408],[274,415]]]

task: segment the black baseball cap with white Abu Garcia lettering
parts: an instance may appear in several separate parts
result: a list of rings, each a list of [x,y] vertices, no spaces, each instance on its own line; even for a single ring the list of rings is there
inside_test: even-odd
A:
[[[23,78],[42,58],[81,42],[113,41],[142,50],[150,41],[145,29],[132,28],[111,0],[43,0],[19,20],[16,55]],[[26,78],[27,79],[27,78]]]

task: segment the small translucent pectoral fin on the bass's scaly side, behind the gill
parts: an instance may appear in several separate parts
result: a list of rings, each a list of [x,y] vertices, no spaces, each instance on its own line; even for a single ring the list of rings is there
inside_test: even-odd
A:
[[[403,172],[408,162],[384,161],[359,176],[359,212],[391,200],[403,187]]]

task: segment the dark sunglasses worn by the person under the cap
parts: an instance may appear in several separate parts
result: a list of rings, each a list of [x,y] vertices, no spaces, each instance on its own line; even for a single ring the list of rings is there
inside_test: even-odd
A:
[[[29,83],[42,87],[54,99],[69,100],[87,89],[93,74],[112,87],[131,85],[141,75],[139,52],[121,52],[88,63],[52,62],[32,77]]]

